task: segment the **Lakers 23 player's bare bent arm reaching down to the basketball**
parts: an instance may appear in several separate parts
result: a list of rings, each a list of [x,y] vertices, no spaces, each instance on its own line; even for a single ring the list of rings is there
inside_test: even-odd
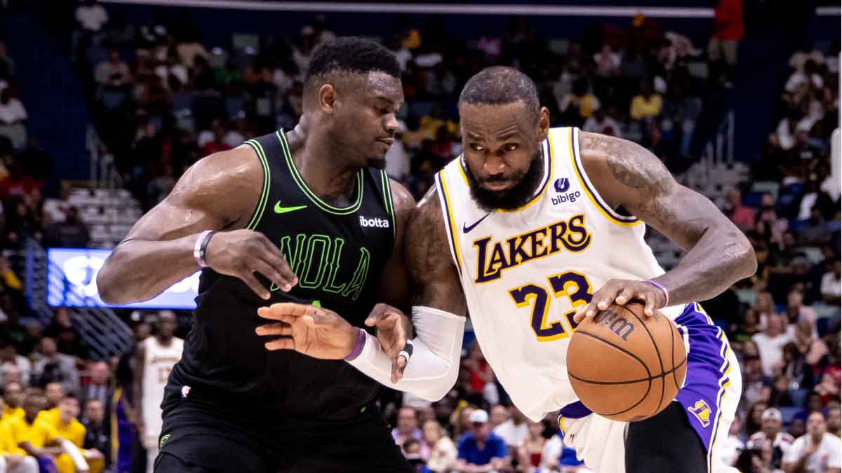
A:
[[[652,315],[668,303],[668,294],[670,306],[707,300],[754,274],[757,259],[748,238],[709,199],[677,183],[658,157],[632,141],[587,132],[579,136],[585,170],[602,198],[687,253],[675,268],[651,279],[666,292],[642,281],[611,279],[577,313],[577,322],[612,301],[642,300]]]

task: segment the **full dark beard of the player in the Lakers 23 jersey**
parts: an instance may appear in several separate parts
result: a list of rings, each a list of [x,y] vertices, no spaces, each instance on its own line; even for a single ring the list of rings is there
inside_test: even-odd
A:
[[[484,182],[495,182],[502,179],[488,179],[481,181],[471,172],[471,167],[465,166],[465,173],[468,177],[471,197],[482,210],[493,212],[494,210],[514,210],[525,205],[532,198],[544,175],[544,160],[541,158],[541,146],[535,152],[530,161],[529,168],[525,172],[514,175],[517,181],[514,186],[504,190],[489,190],[482,187]]]

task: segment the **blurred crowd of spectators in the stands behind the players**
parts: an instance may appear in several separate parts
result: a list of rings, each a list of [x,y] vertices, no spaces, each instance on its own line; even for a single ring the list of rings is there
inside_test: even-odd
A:
[[[698,157],[694,136],[707,98],[738,81],[741,15],[738,2],[717,3],[712,35],[695,44],[642,15],[578,39],[541,37],[522,18],[500,35],[470,41],[449,38],[435,19],[424,27],[399,21],[382,38],[401,63],[407,102],[386,170],[417,197],[424,194],[434,173],[460,152],[462,84],[484,66],[504,64],[535,79],[554,124],[640,142],[680,173]],[[224,49],[203,45],[189,21],[152,15],[132,24],[88,0],[75,19],[72,59],[100,151],[113,157],[120,181],[145,208],[200,157],[295,125],[307,62],[334,37],[323,16],[291,37],[264,43],[237,35]],[[743,472],[799,463],[823,471],[834,452],[842,455],[839,175],[830,162],[831,133],[839,126],[839,45],[799,50],[790,66],[776,109],[780,122],[762,159],[722,202],[753,243],[758,273],[704,304],[741,362],[743,401],[722,460]],[[69,184],[56,199],[41,196],[50,157],[26,137],[14,77],[0,44],[0,241],[6,249],[29,238],[84,247],[88,229],[67,205]],[[47,458],[72,471],[77,463],[61,456],[69,455],[61,449],[69,440],[91,470],[144,470],[134,353],[90,359],[66,309],[56,309],[46,326],[29,317],[21,278],[0,258],[0,450],[17,459],[8,464],[27,471],[27,457]],[[160,335],[152,327],[159,318],[125,315],[137,342]],[[392,436],[419,471],[586,471],[563,447],[554,414],[531,423],[511,406],[476,343],[466,343],[459,380],[443,400],[430,404],[388,391],[382,403]],[[31,450],[15,449],[19,440]]]

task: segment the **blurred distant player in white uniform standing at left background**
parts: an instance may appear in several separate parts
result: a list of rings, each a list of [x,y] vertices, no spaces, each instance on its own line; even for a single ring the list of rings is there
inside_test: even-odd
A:
[[[181,359],[184,340],[173,337],[176,328],[173,311],[158,312],[157,333],[137,344],[135,353],[135,406],[137,431],[147,449],[147,472],[152,473],[161,435],[163,388],[169,372]]]

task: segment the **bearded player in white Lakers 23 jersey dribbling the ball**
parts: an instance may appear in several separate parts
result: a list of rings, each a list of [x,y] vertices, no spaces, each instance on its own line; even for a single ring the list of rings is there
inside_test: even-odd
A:
[[[739,368],[722,330],[695,301],[754,274],[748,240],[642,146],[551,128],[535,84],[521,72],[479,72],[459,105],[465,154],[438,173],[404,241],[417,334],[397,368],[385,353],[393,348],[355,335],[324,308],[259,310],[291,324],[274,325],[282,338],[271,347],[317,357],[330,357],[332,348],[386,385],[428,394],[436,385],[432,391],[444,395],[456,378],[460,322],[469,310],[482,352],[516,407],[533,421],[560,411],[565,443],[589,469],[735,471],[716,465],[711,453],[737,407]],[[687,250],[667,273],[643,240],[644,222]],[[632,300],[675,322],[688,368],[663,412],[621,423],[578,401],[566,356],[584,317]],[[372,316],[392,311],[379,305]]]

